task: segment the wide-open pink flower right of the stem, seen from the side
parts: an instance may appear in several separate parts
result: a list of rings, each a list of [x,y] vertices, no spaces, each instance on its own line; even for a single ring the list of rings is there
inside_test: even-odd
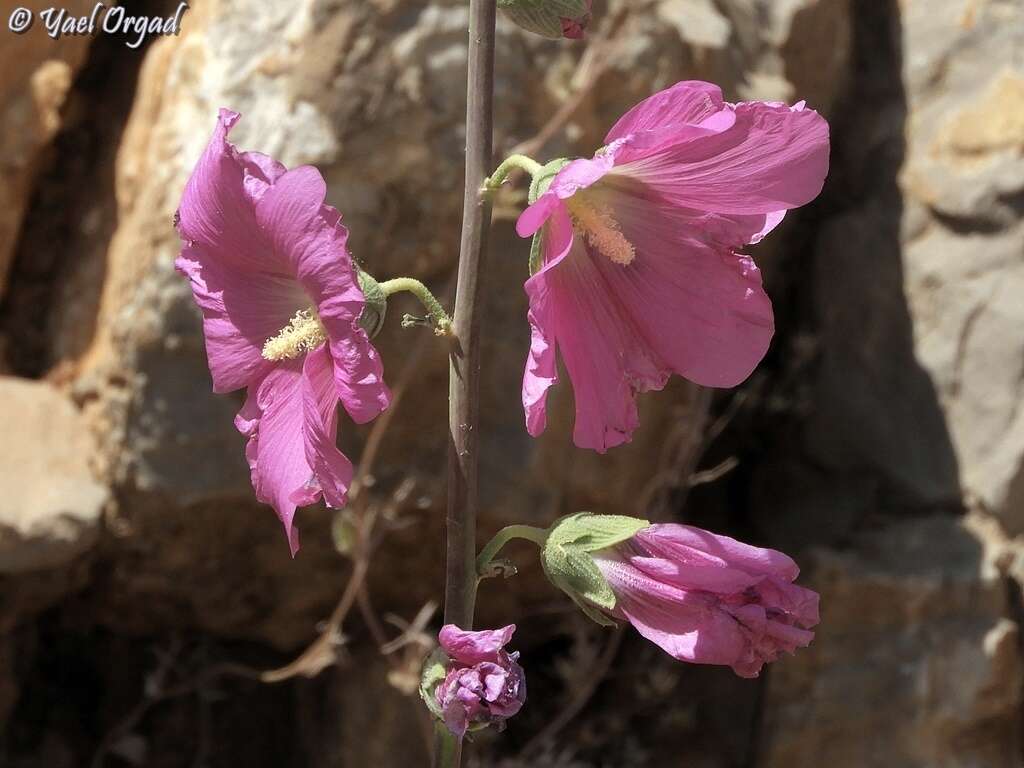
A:
[[[631,439],[637,392],[674,373],[734,386],[764,356],[771,302],[736,250],[821,190],[828,125],[803,103],[731,104],[715,85],[684,82],[605,140],[565,165],[517,224],[522,237],[541,231],[543,254],[525,286],[527,430],[544,431],[558,350],[575,392],[574,442],[601,453]]]

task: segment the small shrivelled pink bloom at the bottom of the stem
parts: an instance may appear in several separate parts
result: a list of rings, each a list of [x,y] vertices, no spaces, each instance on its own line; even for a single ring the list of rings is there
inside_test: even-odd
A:
[[[441,628],[438,640],[451,660],[435,696],[444,724],[460,738],[470,726],[502,725],[522,709],[526,677],[519,654],[505,650],[514,632],[515,625],[482,632]]]

